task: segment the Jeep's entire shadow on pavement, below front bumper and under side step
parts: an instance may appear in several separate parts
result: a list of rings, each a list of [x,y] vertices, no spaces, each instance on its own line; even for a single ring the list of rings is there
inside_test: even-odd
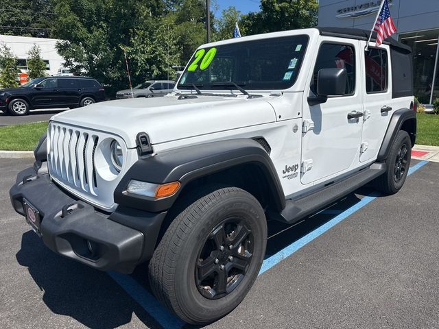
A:
[[[364,196],[373,193],[368,188],[357,192]],[[360,201],[361,197],[352,193],[293,226],[270,222],[265,257],[276,254]],[[130,323],[134,312],[148,328],[161,328],[110,276],[54,254],[32,231],[23,234],[16,259],[45,291],[43,301],[56,314],[73,317],[89,328],[115,328]],[[147,264],[137,267],[131,276],[150,291]],[[185,325],[185,328],[201,327]]]

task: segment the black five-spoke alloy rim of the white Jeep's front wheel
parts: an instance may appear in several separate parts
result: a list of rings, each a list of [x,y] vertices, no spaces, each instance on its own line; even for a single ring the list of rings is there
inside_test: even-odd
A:
[[[198,256],[195,282],[209,299],[231,293],[242,281],[253,253],[253,234],[239,218],[226,219],[209,234]]]

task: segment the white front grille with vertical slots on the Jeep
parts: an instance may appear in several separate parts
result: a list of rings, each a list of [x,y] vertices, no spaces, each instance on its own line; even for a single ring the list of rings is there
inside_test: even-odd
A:
[[[51,178],[77,195],[103,210],[115,205],[113,193],[123,173],[110,165],[110,143],[119,136],[106,132],[51,121],[47,138],[47,161]],[[106,153],[107,152],[107,153]],[[129,165],[135,158],[126,149]],[[105,154],[104,154],[105,153]],[[134,154],[136,151],[134,149]]]

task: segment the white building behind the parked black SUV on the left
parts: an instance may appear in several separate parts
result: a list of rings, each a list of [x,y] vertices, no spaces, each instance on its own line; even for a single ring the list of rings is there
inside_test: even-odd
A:
[[[40,46],[41,58],[46,62],[47,75],[54,75],[62,67],[64,61],[55,45],[58,39],[32,38],[27,36],[5,36],[0,34],[0,44],[10,47],[12,53],[17,59],[17,64],[22,72],[27,71],[27,53],[34,45]]]

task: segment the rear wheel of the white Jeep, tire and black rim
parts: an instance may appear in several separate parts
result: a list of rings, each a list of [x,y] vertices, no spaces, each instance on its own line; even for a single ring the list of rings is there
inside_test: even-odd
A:
[[[375,180],[375,186],[385,194],[395,194],[402,187],[407,178],[412,156],[412,141],[404,130],[396,135],[389,156],[385,163],[387,171]]]

